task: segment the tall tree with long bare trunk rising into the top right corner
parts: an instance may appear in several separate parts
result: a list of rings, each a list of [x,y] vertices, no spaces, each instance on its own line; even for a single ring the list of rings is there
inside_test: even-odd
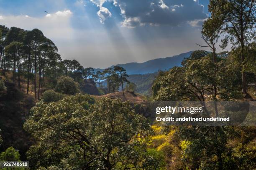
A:
[[[222,22],[221,29],[227,33],[223,48],[227,46],[228,39],[233,47],[241,47],[241,67],[243,93],[247,95],[246,88],[246,44],[255,36],[256,2],[255,0],[210,0],[208,7],[211,15]]]

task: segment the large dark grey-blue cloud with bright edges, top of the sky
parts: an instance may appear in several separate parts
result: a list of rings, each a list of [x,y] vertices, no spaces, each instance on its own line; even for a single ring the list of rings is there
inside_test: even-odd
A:
[[[207,18],[203,6],[194,0],[113,0],[120,7],[123,26],[195,23]],[[194,24],[195,25],[195,24]],[[194,26],[192,25],[192,26]]]

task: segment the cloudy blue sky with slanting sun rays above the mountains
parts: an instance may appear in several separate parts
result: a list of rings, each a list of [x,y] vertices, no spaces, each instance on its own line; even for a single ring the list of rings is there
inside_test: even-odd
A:
[[[0,0],[0,25],[40,29],[62,59],[106,68],[202,49],[209,0]],[[46,12],[44,12],[47,11]],[[207,50],[207,49],[205,49]]]

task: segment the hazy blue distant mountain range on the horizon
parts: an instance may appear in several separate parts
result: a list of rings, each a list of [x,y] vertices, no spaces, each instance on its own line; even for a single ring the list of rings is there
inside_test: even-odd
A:
[[[193,51],[185,52],[173,57],[157,58],[142,63],[130,62],[127,64],[118,64],[117,66],[123,67],[128,75],[153,73],[157,72],[158,70],[169,70],[174,66],[181,65],[184,57],[189,57],[192,52]],[[114,65],[111,67],[114,67]],[[100,68],[94,69],[95,72],[103,70],[104,69]]]

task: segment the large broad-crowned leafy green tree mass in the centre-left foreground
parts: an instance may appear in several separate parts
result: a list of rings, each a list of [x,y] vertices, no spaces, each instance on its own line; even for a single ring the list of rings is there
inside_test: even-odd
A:
[[[36,140],[27,153],[33,168],[158,169],[161,157],[154,158],[157,154],[138,140],[150,132],[146,118],[128,102],[93,102],[89,95],[77,94],[32,108],[24,128]]]

